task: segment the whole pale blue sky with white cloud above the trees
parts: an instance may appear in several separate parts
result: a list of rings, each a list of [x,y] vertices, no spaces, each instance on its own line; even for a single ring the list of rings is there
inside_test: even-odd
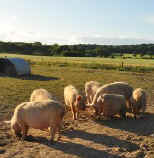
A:
[[[154,0],[1,0],[0,41],[154,43]]]

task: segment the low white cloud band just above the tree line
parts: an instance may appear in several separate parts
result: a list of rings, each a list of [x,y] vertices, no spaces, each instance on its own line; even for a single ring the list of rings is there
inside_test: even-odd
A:
[[[52,35],[52,34],[41,34],[37,32],[26,32],[26,31],[14,31],[0,33],[1,41],[10,42],[42,42],[46,44],[100,44],[100,45],[131,45],[131,44],[142,44],[142,43],[154,43],[154,39],[139,38],[139,37],[128,37],[128,36],[116,36],[106,37],[100,34],[93,35],[78,35],[78,34],[66,34],[66,35]]]

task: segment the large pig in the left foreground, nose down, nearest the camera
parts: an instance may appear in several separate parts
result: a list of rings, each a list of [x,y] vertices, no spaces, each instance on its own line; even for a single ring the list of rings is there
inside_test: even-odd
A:
[[[54,100],[23,102],[14,110],[11,129],[17,137],[25,139],[29,128],[44,130],[49,127],[50,141],[53,142],[56,132],[60,137],[64,114],[64,106]]]

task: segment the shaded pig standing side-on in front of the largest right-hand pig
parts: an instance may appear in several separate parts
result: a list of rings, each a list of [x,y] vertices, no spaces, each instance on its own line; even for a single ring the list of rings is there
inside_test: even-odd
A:
[[[103,113],[106,119],[115,114],[120,114],[121,118],[126,118],[126,99],[123,95],[103,94],[98,97],[94,108],[98,115]]]

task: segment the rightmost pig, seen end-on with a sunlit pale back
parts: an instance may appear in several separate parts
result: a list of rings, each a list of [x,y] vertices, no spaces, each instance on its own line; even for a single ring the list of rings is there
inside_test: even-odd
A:
[[[132,113],[136,119],[139,116],[140,111],[145,112],[147,105],[147,94],[142,88],[137,88],[133,91],[130,99]]]

